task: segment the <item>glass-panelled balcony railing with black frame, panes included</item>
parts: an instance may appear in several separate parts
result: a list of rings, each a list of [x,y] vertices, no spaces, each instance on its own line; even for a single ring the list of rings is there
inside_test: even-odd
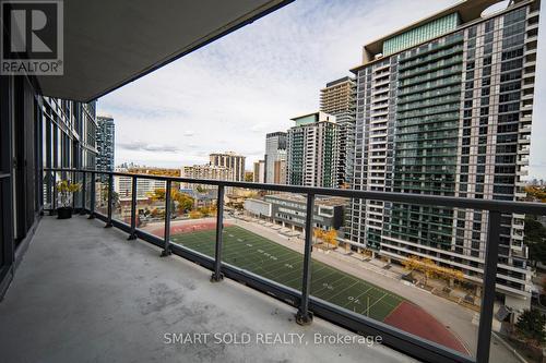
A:
[[[487,362],[496,281],[510,280],[503,286],[511,291],[525,286],[521,274],[499,263],[505,217],[546,215],[543,204],[434,195],[436,186],[438,193],[453,195],[447,172],[424,179],[397,171],[394,184],[378,174],[375,191],[95,170],[46,169],[43,174],[51,211],[57,206],[54,181],[70,176],[85,185],[74,207],[126,231],[129,239],[140,238],[159,246],[162,255],[177,254],[211,269],[212,281],[225,276],[290,304],[299,324],[318,315],[380,336],[385,346],[423,361]],[[422,189],[428,195],[417,194]],[[369,221],[366,229],[363,219]],[[480,247],[468,254],[451,249],[452,237],[464,235],[467,220],[474,220],[474,228],[484,226]],[[361,239],[366,242],[356,242]],[[382,259],[373,258],[379,247]],[[400,256],[406,262],[394,263]],[[461,271],[440,268],[448,262]],[[394,278],[400,274],[406,279]],[[449,283],[432,282],[434,274]],[[474,292],[461,294],[468,281],[474,281]]]

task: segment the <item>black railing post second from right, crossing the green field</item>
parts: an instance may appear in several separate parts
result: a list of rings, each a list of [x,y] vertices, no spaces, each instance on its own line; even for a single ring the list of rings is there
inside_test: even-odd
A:
[[[312,214],[313,214],[314,195],[307,194],[306,208],[306,232],[305,232],[305,250],[304,250],[304,279],[301,281],[301,301],[296,314],[296,323],[299,325],[308,325],[312,322],[312,312],[309,311],[309,293],[311,289],[311,249],[312,249]]]

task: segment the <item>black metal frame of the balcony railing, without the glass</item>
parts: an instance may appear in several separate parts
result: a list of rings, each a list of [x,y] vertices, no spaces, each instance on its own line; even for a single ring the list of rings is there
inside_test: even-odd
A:
[[[492,199],[473,199],[459,198],[449,196],[435,195],[418,195],[391,192],[369,192],[346,189],[325,189],[325,187],[309,187],[296,185],[281,184],[261,184],[250,182],[234,182],[219,181],[207,179],[189,179],[178,177],[162,177],[150,174],[134,174],[127,172],[98,171],[87,169],[62,169],[50,168],[44,169],[44,172],[52,172],[52,196],[51,206],[56,206],[56,174],[72,173],[73,178],[76,173],[82,176],[82,180],[86,181],[86,176],[91,174],[91,205],[86,208],[86,187],[82,187],[81,192],[81,210],[90,215],[90,219],[95,217],[106,222],[105,227],[117,227],[129,233],[129,240],[141,238],[163,249],[162,256],[168,256],[175,253],[181,257],[193,261],[213,271],[211,281],[221,281],[224,276],[241,281],[254,289],[264,291],[273,297],[287,302],[297,307],[296,322],[298,324],[309,324],[312,320],[313,313],[335,324],[344,326],[353,331],[368,335],[379,335],[383,339],[383,343],[402,351],[411,356],[417,358],[426,362],[477,362],[485,363],[489,360],[489,349],[491,340],[491,324],[494,316],[495,302],[495,285],[497,276],[498,250],[499,250],[499,232],[501,223],[501,214],[531,214],[546,215],[546,204],[527,203],[527,202],[509,202],[509,201],[492,201]],[[108,206],[107,215],[102,215],[95,210],[95,184],[98,174],[108,176]],[[112,191],[114,177],[130,177],[132,178],[132,197],[131,197],[131,223],[127,225],[122,221],[112,219]],[[136,229],[136,180],[152,179],[166,182],[165,193],[165,233],[164,238],[152,235],[147,232]],[[173,182],[207,184],[217,186],[217,214],[216,214],[216,241],[215,256],[211,258],[195,251],[186,249],[181,245],[170,243],[170,190]],[[50,185],[48,185],[50,187]],[[306,207],[306,226],[305,226],[305,249],[304,249],[304,270],[301,277],[301,291],[278,285],[274,281],[254,275],[247,270],[241,270],[235,266],[222,263],[222,229],[224,219],[224,193],[226,187],[244,187],[264,191],[299,193],[307,196]],[[49,192],[49,190],[48,190]],[[471,358],[463,355],[458,351],[451,350],[435,342],[425,340],[410,332],[394,328],[381,322],[368,318],[356,314],[341,306],[331,304],[323,300],[310,297],[311,281],[311,238],[312,238],[312,210],[314,198],[317,195],[340,196],[348,198],[377,199],[382,202],[395,202],[404,204],[441,206],[453,208],[470,208],[487,210],[488,215],[488,233],[484,262],[484,282],[483,294],[479,314],[479,326],[477,337],[476,356]]]

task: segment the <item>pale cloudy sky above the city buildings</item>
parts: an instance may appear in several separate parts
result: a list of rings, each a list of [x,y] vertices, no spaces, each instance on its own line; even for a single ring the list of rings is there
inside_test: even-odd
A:
[[[456,2],[297,0],[99,98],[116,122],[116,165],[180,168],[233,150],[251,170],[265,134],[319,110],[320,89],[352,74],[365,44]],[[542,29],[529,178],[546,179],[544,38]]]

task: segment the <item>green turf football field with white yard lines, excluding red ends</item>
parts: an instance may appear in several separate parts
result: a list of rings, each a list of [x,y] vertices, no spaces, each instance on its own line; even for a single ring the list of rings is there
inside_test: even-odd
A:
[[[214,256],[215,230],[171,235],[174,243]],[[224,229],[225,263],[301,290],[302,255],[237,226]],[[383,320],[403,298],[365,280],[312,261],[311,295]],[[369,305],[368,305],[369,304]]]

